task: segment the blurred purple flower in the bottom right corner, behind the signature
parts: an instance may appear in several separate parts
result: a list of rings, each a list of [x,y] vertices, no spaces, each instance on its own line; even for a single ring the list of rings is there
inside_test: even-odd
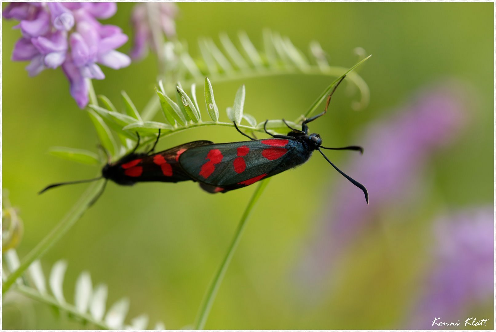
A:
[[[444,216],[434,223],[433,262],[422,295],[409,311],[409,329],[437,328],[435,318],[440,318],[436,323],[460,320],[463,329],[466,316],[472,315],[464,309],[493,303],[493,227],[491,206]]]

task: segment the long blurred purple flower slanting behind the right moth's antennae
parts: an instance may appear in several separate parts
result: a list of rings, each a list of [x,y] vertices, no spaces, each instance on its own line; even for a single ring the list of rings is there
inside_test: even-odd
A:
[[[364,142],[365,154],[352,157],[351,166],[343,169],[368,188],[371,204],[364,204],[360,190],[346,180],[333,188],[327,217],[318,226],[298,276],[309,284],[324,278],[335,259],[381,219],[381,213],[412,201],[430,156],[460,135],[466,114],[463,96],[464,89],[457,85],[430,88],[357,139]]]

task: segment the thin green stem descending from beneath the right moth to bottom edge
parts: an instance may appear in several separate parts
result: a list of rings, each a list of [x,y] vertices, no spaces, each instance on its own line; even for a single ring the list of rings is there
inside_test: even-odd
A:
[[[238,224],[238,228],[236,229],[236,232],[234,233],[234,238],[231,241],[231,245],[229,246],[229,248],[227,250],[226,256],[224,257],[224,260],[222,261],[219,269],[217,270],[215,277],[213,278],[212,282],[210,283],[210,286],[208,287],[207,293],[205,294],[205,297],[201,303],[200,310],[198,312],[198,315],[196,317],[196,321],[194,324],[195,330],[203,330],[203,328],[205,327],[205,323],[206,323],[208,315],[210,313],[210,309],[212,308],[212,304],[215,300],[215,296],[217,295],[217,291],[219,290],[222,279],[224,278],[224,275],[226,274],[227,268],[229,267],[229,263],[231,262],[231,259],[233,258],[236,247],[238,246],[238,243],[241,239],[241,234],[243,234],[243,230],[245,229],[246,222],[248,221],[248,217],[250,216],[251,211],[253,210],[253,207],[255,206],[256,202],[258,201],[258,198],[260,198],[260,195],[262,194],[263,190],[265,189],[265,187],[269,183],[269,180],[270,180],[270,178],[265,179],[265,180],[260,182],[258,187],[253,192],[253,196],[251,196],[251,199],[248,202],[248,205],[245,209],[245,212],[243,213],[243,216],[241,217],[240,223]]]

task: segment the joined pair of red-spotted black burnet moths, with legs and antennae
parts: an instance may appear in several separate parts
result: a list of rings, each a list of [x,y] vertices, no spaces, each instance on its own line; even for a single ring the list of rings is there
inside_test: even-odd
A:
[[[363,153],[363,149],[359,146],[323,147],[321,146],[320,135],[308,134],[308,123],[327,112],[331,97],[343,79],[344,77],[327,97],[324,111],[303,121],[301,130],[292,128],[284,121],[291,132],[287,135],[272,135],[265,128],[266,121],[264,130],[272,138],[254,139],[243,133],[234,122],[236,129],[248,137],[249,141],[221,144],[213,144],[210,141],[195,141],[158,153],[153,153],[153,151],[160,137],[160,131],[153,148],[147,153],[136,153],[139,146],[138,136],[138,143],[134,150],[116,163],[109,163],[104,166],[101,177],[52,184],[40,193],[63,184],[89,182],[102,177],[121,185],[132,185],[145,181],[180,182],[193,180],[198,181],[201,188],[210,193],[225,193],[302,165],[309,160],[312,152],[317,150],[331,166],[362,189],[365,199],[369,203],[367,188],[342,172],[321,151],[321,149],[354,150]]]

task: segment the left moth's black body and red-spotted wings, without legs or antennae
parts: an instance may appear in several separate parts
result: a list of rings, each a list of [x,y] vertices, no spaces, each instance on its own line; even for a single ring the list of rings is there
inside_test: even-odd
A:
[[[194,141],[155,154],[134,154],[125,157],[115,167],[113,180],[126,184],[134,182],[180,182],[191,177],[179,165],[179,157],[188,149],[212,144],[211,141]]]

